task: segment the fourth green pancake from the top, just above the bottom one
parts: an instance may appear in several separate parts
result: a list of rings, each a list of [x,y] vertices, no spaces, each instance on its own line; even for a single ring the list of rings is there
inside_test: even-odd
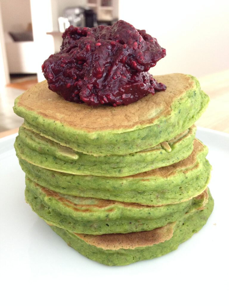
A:
[[[202,207],[207,200],[207,191],[177,204],[147,206],[64,196],[27,178],[25,199],[35,213],[49,224],[71,232],[101,235],[153,230],[174,222],[193,203]]]

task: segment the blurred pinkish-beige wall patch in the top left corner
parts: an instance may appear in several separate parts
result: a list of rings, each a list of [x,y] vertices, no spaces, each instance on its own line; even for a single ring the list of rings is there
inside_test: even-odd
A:
[[[31,23],[30,0],[1,0],[5,32],[23,32]]]

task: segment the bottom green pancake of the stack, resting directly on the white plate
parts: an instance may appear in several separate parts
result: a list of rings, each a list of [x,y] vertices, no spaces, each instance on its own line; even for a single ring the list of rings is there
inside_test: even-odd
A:
[[[179,244],[205,225],[213,205],[213,198],[209,193],[209,200],[204,209],[200,210],[193,206],[176,222],[138,233],[93,236],[71,233],[56,226],[51,228],[69,246],[89,259],[108,266],[122,266],[159,257],[177,249]]]

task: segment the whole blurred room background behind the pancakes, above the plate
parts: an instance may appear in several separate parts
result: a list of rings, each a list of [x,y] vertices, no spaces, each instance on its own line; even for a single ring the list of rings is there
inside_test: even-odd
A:
[[[17,95],[44,80],[41,65],[75,26],[122,19],[145,29],[167,51],[151,74],[197,76],[211,103],[201,126],[229,132],[229,2],[148,0],[0,0],[0,132],[18,127]]]

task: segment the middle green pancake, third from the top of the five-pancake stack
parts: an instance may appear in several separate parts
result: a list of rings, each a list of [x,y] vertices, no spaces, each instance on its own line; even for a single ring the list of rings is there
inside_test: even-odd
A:
[[[127,177],[74,175],[47,170],[19,159],[22,170],[39,185],[66,195],[145,205],[173,204],[198,196],[209,183],[208,149],[194,140],[192,154],[173,165]]]

